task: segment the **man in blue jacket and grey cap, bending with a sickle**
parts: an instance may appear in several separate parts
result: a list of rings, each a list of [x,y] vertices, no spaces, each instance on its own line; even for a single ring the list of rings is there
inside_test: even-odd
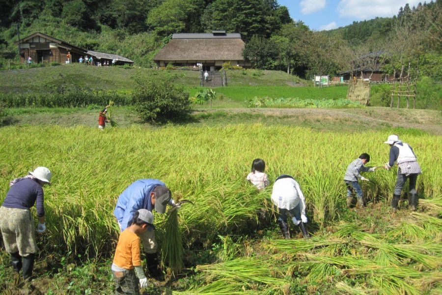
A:
[[[118,226],[124,231],[131,225],[135,211],[147,209],[152,212],[155,208],[160,214],[166,212],[167,204],[178,206],[171,197],[172,193],[163,181],[158,179],[139,179],[129,185],[118,197],[115,215]],[[177,207],[179,209],[180,207]],[[158,244],[155,240],[154,227],[141,233],[141,241],[146,255],[147,268],[153,278],[163,280],[162,272],[158,269]]]

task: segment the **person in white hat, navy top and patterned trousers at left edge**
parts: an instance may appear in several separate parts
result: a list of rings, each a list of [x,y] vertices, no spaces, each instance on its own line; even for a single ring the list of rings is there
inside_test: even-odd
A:
[[[37,231],[46,230],[43,186],[51,183],[52,174],[46,167],[37,167],[28,176],[16,178],[0,207],[0,230],[6,252],[14,270],[23,269],[23,278],[32,279],[35,254],[38,252],[34,221],[30,207],[37,208]]]

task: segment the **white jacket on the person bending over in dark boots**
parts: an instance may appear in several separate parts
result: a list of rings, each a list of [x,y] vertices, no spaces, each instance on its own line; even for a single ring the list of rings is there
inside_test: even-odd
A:
[[[298,182],[292,178],[281,178],[273,185],[272,202],[276,207],[291,210],[300,206],[301,214],[305,215],[304,194]]]

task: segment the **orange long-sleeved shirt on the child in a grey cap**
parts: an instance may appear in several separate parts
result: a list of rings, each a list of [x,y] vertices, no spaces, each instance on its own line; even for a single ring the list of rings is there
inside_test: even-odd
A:
[[[113,264],[126,269],[133,269],[134,266],[140,266],[140,245],[141,240],[139,236],[125,229],[118,238]]]

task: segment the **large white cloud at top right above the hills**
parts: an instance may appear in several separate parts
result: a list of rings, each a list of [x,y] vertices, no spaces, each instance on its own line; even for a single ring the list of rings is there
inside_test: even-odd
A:
[[[410,8],[417,6],[422,0],[340,0],[337,11],[341,17],[372,19],[375,17],[391,17],[397,15],[399,8],[406,3]]]

